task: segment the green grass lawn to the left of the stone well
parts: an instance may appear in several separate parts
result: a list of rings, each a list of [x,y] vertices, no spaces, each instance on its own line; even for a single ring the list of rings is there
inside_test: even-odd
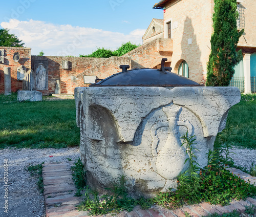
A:
[[[0,148],[79,145],[75,100],[0,102],[0,107]]]

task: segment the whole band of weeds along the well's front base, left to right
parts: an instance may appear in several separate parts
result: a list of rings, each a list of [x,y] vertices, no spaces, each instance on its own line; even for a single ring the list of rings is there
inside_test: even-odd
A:
[[[178,176],[177,190],[169,189],[169,192],[159,192],[155,198],[139,200],[130,198],[125,191],[125,177],[119,177],[119,183],[108,188],[110,194],[99,197],[98,192],[86,188],[86,199],[79,206],[79,210],[90,210],[93,215],[118,213],[122,210],[132,211],[133,207],[139,204],[146,209],[151,205],[158,204],[169,209],[176,209],[184,204],[198,204],[208,202],[210,204],[227,205],[232,200],[243,200],[247,197],[256,196],[256,187],[246,183],[238,176],[233,176],[226,167],[232,161],[230,158],[230,141],[233,127],[230,121],[227,127],[218,135],[215,143],[215,150],[208,153],[208,163],[200,168],[197,163],[195,151],[195,136],[184,134],[182,145],[186,147],[189,161],[187,171]],[[254,168],[254,167],[253,167]],[[248,211],[249,212],[249,211]],[[189,216],[189,215],[187,215]],[[217,213],[209,215],[219,217]],[[223,214],[223,217],[239,216],[237,211]],[[222,217],[220,216],[220,217]]]

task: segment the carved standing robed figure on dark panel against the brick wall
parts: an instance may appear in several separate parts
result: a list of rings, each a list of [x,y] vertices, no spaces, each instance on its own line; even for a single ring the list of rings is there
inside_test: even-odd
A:
[[[48,61],[35,60],[34,69],[36,90],[48,90]]]

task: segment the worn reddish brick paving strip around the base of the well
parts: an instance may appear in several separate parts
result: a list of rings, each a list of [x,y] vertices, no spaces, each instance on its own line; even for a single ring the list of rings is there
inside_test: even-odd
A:
[[[47,217],[88,217],[88,211],[77,211],[76,205],[81,202],[81,198],[76,197],[76,188],[72,180],[69,163],[46,163],[42,168],[44,179],[44,196]],[[247,182],[256,186],[256,178],[242,172],[236,168],[229,168],[235,175],[240,176]],[[234,201],[228,206],[210,205],[201,203],[198,205],[183,206],[176,210],[168,210],[159,206],[154,206],[148,210],[142,210],[136,206],[132,212],[120,212],[117,217],[179,217],[185,216],[185,212],[193,217],[200,217],[209,213],[228,213],[235,209],[244,213],[246,205],[256,206],[256,199],[247,198],[246,201]],[[111,214],[97,215],[98,217],[110,217]]]

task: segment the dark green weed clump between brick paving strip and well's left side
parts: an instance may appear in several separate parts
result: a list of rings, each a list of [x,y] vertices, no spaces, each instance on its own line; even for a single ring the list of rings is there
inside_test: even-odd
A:
[[[83,164],[80,158],[78,158],[71,167],[73,180],[75,182],[77,192],[76,196],[81,196],[81,190],[86,186],[86,172],[83,170]]]

